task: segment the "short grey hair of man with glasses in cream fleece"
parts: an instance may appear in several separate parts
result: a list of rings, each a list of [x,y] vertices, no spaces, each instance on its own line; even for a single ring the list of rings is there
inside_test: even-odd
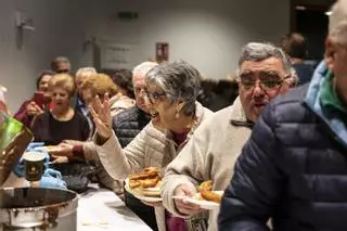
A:
[[[240,68],[245,61],[260,62],[269,57],[280,59],[286,74],[294,78],[295,84],[298,82],[296,70],[292,66],[290,57],[281,48],[269,42],[249,42],[242,49],[242,54],[239,60],[237,76],[240,76]]]

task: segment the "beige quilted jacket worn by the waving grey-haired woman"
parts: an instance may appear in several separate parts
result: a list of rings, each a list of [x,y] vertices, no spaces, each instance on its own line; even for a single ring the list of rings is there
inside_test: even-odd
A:
[[[196,124],[188,136],[193,134],[195,127],[205,120],[211,112],[196,103]],[[185,144],[177,146],[172,141],[172,133],[168,130],[157,130],[152,123],[125,147],[121,149],[115,134],[103,145],[97,145],[100,161],[108,175],[117,180],[125,180],[130,174],[140,172],[145,167],[165,167],[176,157]],[[166,230],[164,207],[155,208],[159,231]]]

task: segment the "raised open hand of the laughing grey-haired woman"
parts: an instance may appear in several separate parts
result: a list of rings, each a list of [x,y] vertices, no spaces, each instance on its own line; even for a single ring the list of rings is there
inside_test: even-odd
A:
[[[92,105],[89,105],[89,110],[95,124],[95,131],[101,138],[107,140],[112,136],[112,117],[108,105],[108,93],[105,93],[103,102],[101,102],[100,98],[97,95]]]

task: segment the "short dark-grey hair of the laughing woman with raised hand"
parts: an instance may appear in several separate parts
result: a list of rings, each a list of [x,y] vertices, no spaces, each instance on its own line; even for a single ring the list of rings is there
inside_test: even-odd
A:
[[[182,100],[184,102],[182,111],[188,116],[195,113],[201,79],[198,70],[184,61],[160,64],[145,76],[146,84],[163,89],[171,103]]]

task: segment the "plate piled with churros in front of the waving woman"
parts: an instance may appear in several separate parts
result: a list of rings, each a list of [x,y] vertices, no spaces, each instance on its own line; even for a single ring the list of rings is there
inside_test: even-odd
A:
[[[144,202],[162,202],[159,168],[147,167],[126,179],[125,190]]]

